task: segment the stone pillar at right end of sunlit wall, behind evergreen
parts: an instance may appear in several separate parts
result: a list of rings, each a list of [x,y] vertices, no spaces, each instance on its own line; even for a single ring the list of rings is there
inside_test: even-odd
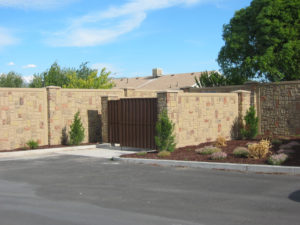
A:
[[[244,91],[244,90],[238,90],[233,91],[232,93],[238,94],[238,128],[239,130],[243,127],[244,124],[244,117],[246,115],[247,110],[251,106],[251,92],[250,91]],[[238,132],[239,133],[239,132]],[[240,133],[239,133],[240,135]]]

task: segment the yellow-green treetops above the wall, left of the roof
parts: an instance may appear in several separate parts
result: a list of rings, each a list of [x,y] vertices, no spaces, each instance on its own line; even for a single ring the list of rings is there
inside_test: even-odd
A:
[[[49,70],[35,74],[29,87],[59,86],[64,88],[108,89],[113,87],[109,78],[111,72],[103,68],[99,75],[98,70],[91,69],[87,62],[82,63],[79,69],[61,68],[57,62]]]

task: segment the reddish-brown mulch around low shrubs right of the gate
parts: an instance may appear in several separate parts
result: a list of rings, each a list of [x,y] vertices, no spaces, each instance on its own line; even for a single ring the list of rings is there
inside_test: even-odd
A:
[[[300,138],[282,140],[282,144],[286,144],[291,141],[297,141],[300,143]],[[233,155],[233,150],[236,147],[247,147],[247,143],[253,143],[258,141],[249,140],[231,140],[227,141],[226,147],[221,147],[223,152],[227,153],[227,158],[223,160],[211,160],[209,155],[201,155],[195,152],[195,149],[202,148],[204,146],[213,145],[214,142],[206,142],[199,144],[197,146],[186,146],[183,148],[178,148],[171,153],[169,157],[158,157],[157,152],[149,152],[146,155],[139,156],[137,154],[127,154],[123,155],[124,158],[144,158],[144,159],[166,159],[166,160],[183,160],[183,161],[203,161],[203,162],[226,162],[226,163],[243,163],[243,164],[268,164],[267,158],[264,159],[253,159],[253,158],[237,158]],[[297,149],[296,149],[297,148]],[[272,146],[270,151],[276,153],[279,150],[279,146]],[[284,166],[300,166],[300,148],[295,147],[293,149],[295,153],[289,155],[289,158],[282,165]]]

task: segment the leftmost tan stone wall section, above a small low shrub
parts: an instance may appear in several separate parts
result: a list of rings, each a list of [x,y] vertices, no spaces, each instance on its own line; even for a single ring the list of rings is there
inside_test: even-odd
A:
[[[48,144],[46,89],[0,88],[0,150]]]

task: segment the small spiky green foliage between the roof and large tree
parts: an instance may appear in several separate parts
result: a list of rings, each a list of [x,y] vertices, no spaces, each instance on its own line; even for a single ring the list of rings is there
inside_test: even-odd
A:
[[[195,77],[198,87],[217,87],[229,85],[229,81],[218,72],[203,72],[199,78]]]

